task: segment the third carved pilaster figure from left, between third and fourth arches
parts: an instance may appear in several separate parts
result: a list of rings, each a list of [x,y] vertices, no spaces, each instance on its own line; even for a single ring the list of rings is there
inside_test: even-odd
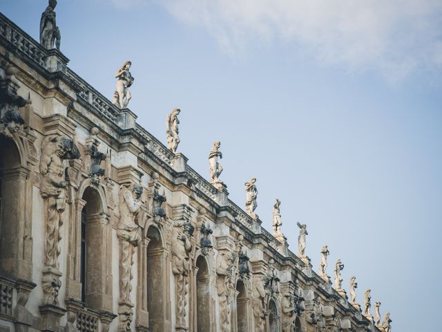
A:
[[[172,230],[172,273],[175,276],[176,326],[186,329],[186,304],[189,287],[192,250],[190,237],[193,234],[191,223],[177,222]]]

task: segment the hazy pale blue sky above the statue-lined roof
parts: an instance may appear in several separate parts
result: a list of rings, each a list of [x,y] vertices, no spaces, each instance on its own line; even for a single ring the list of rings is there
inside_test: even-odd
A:
[[[0,0],[38,39],[44,0]],[[165,142],[180,107],[179,151],[209,178],[220,140],[222,181],[244,206],[258,178],[267,230],[280,199],[297,252],[320,249],[357,300],[392,313],[393,331],[436,332],[442,287],[442,1],[60,0],[70,68],[111,98],[132,61],[129,107]],[[431,282],[430,282],[431,281]],[[374,310],[372,310],[374,314]],[[439,325],[437,325],[439,326]]]

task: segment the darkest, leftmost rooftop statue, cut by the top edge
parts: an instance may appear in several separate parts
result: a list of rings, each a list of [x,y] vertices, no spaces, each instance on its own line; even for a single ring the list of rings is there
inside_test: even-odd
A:
[[[47,50],[57,47],[60,50],[60,30],[55,22],[55,7],[57,0],[49,0],[48,7],[41,14],[40,19],[40,44]]]

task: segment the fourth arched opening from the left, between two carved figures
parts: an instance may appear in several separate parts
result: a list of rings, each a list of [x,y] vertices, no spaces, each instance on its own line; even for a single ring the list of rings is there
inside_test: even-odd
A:
[[[210,331],[210,286],[209,267],[204,256],[198,257],[196,261],[198,273],[196,275],[196,307],[197,307],[197,331]]]

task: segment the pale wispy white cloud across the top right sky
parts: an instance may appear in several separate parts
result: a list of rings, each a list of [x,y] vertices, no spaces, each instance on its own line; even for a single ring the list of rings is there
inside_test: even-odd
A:
[[[441,0],[154,2],[185,24],[202,26],[233,54],[252,42],[282,39],[320,63],[371,68],[392,79],[442,66]]]

